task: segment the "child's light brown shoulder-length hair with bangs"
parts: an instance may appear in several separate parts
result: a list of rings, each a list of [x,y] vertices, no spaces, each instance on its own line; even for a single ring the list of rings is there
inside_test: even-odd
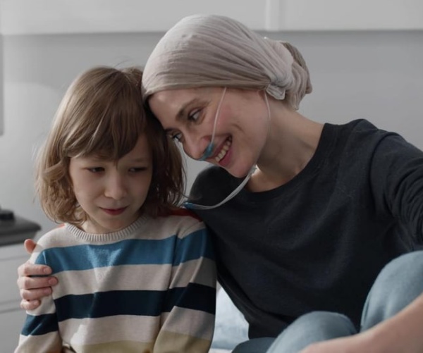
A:
[[[153,176],[142,211],[166,214],[183,198],[185,171],[176,144],[142,104],[142,71],[99,66],[76,78],[63,97],[47,140],[37,156],[35,188],[46,215],[56,222],[87,219],[73,193],[71,157],[95,154],[118,161],[145,134]]]

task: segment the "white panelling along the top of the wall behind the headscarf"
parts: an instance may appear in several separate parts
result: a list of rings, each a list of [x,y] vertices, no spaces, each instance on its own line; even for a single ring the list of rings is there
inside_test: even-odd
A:
[[[13,0],[0,32],[163,32],[193,13],[216,13],[254,30],[422,30],[422,0]]]

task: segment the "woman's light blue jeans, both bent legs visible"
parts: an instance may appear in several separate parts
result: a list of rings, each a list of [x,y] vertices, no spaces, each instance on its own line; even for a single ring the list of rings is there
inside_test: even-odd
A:
[[[394,259],[379,273],[367,296],[360,330],[390,318],[423,293],[423,251]],[[298,353],[314,342],[357,333],[344,315],[313,311],[300,316],[278,337],[261,337],[241,343],[233,353]]]

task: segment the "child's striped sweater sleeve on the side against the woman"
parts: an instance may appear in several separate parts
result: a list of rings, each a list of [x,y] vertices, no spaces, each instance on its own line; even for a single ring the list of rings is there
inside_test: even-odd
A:
[[[207,230],[195,222],[178,235],[154,353],[206,353],[212,342],[216,267]]]

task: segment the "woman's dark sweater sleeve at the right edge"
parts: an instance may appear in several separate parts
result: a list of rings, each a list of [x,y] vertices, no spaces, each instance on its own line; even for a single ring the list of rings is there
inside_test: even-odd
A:
[[[399,135],[386,135],[374,150],[370,178],[376,204],[423,244],[423,151]]]

